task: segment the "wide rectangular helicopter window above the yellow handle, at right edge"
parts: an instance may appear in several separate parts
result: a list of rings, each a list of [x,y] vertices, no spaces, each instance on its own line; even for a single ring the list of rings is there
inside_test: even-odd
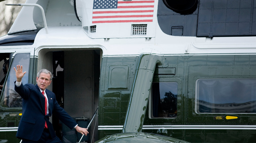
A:
[[[256,113],[256,79],[198,79],[197,113]]]

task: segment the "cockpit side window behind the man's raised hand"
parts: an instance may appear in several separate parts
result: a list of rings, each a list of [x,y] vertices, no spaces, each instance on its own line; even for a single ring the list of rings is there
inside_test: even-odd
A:
[[[29,61],[30,61],[29,53],[16,54],[13,58],[13,62],[9,67],[16,67],[16,65],[22,65],[23,71],[27,71],[27,73],[22,78],[22,83],[25,85],[28,83],[29,77]],[[19,94],[14,90],[14,81],[16,81],[15,71],[13,68],[9,68],[10,71],[7,72],[7,80],[3,88],[2,98],[1,98],[1,106],[2,107],[21,107],[22,106],[22,98]],[[9,74],[8,74],[9,73]]]

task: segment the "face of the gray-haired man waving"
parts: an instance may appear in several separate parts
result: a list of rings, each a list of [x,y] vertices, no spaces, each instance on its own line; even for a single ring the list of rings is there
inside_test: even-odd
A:
[[[43,91],[51,84],[50,73],[42,72],[39,77],[36,77],[37,85]]]

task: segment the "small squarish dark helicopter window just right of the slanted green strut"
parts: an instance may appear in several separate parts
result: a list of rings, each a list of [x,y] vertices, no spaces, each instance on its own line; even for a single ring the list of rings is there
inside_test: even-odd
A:
[[[152,83],[152,116],[153,118],[177,117],[177,82]]]

